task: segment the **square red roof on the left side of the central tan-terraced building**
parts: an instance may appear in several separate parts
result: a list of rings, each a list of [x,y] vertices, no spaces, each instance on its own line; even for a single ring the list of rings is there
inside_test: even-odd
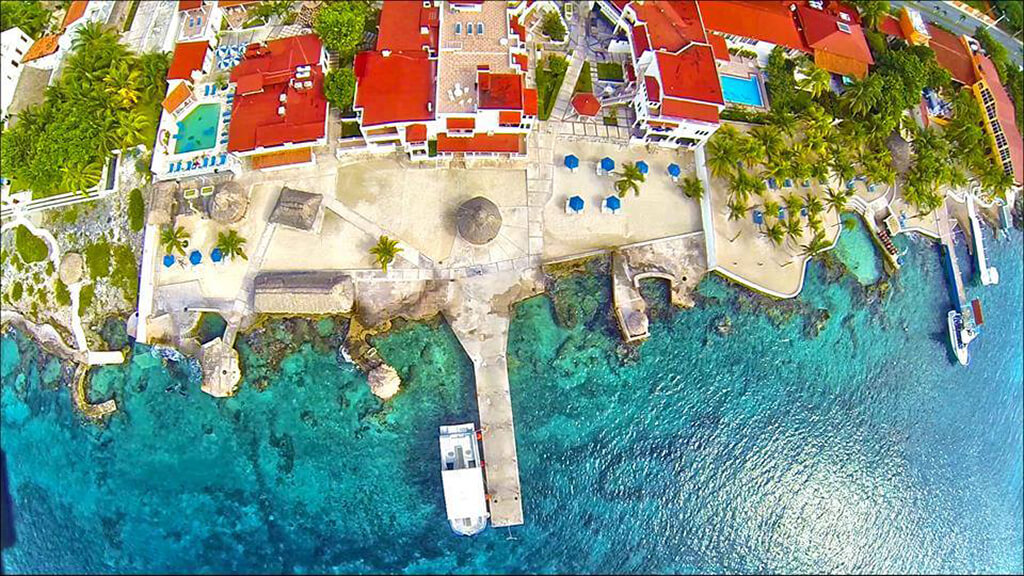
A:
[[[364,126],[433,120],[435,63],[426,52],[360,52],[354,70]]]

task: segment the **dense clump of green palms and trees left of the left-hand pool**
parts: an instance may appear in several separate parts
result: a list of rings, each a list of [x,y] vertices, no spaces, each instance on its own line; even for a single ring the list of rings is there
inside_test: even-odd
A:
[[[168,66],[166,53],[131,53],[102,23],[81,27],[60,79],[4,132],[0,172],[37,196],[94,186],[111,151],[152,148]]]

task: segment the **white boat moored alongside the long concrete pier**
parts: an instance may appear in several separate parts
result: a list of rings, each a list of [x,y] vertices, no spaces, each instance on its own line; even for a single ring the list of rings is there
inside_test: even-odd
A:
[[[441,426],[438,442],[449,524],[457,534],[472,536],[486,528],[490,516],[475,426],[472,422]]]

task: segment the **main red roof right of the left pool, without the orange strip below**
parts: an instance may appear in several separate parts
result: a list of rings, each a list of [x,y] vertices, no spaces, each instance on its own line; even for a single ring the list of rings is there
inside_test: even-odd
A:
[[[262,90],[234,97],[227,150],[247,152],[323,138],[327,125],[327,99],[324,96],[322,45],[313,34],[273,40],[265,48],[250,45],[246,56],[231,71],[231,81],[260,75]],[[310,88],[298,89],[292,80],[295,69],[309,66]],[[247,80],[249,82],[249,80]],[[285,94],[285,101],[281,95]],[[284,107],[285,114],[278,111]]]

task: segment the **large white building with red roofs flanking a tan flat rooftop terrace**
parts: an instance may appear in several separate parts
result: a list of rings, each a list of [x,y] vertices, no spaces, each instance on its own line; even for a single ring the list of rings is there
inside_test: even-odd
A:
[[[515,13],[504,2],[385,2],[376,49],[355,57],[367,149],[524,155],[538,114],[518,25],[536,5],[525,4]]]

